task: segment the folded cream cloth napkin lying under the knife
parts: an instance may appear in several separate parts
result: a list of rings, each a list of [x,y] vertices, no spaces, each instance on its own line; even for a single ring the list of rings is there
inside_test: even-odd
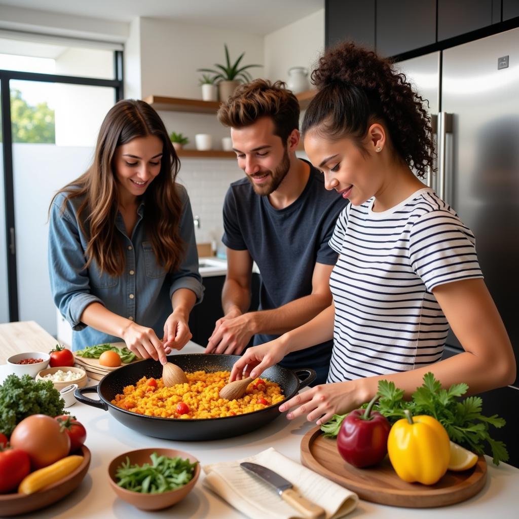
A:
[[[204,485],[252,519],[296,519],[301,515],[276,490],[240,467],[250,461],[268,467],[294,485],[303,497],[326,511],[326,519],[344,517],[357,507],[359,497],[350,490],[283,456],[270,447],[238,461],[206,465]]]

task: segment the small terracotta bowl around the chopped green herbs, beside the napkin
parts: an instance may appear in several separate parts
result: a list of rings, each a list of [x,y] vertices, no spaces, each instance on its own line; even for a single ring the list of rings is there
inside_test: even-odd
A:
[[[187,494],[189,494],[189,492],[193,490],[193,487],[195,486],[195,483],[198,480],[198,476],[200,475],[200,463],[197,463],[197,466],[195,467],[195,473],[193,474],[193,479],[189,483],[180,488],[177,488],[176,490],[168,490],[167,492],[163,492],[162,494],[141,494],[140,492],[127,490],[126,488],[121,488],[117,485],[115,473],[117,472],[117,468],[121,465],[121,463],[126,461],[127,456],[128,458],[130,458],[130,463],[132,465],[134,463],[144,465],[144,463],[149,463],[151,461],[149,457],[153,453],[157,453],[159,456],[168,456],[169,458],[180,456],[182,459],[189,459],[189,461],[192,463],[198,461],[194,456],[190,455],[189,453],[186,453],[183,450],[176,449],[130,450],[130,452],[121,454],[120,456],[117,456],[117,458],[114,458],[108,466],[108,476],[110,478],[110,485],[114,489],[114,492],[121,499],[130,504],[133,504],[134,507],[139,508],[140,510],[162,510],[163,508],[171,507],[173,504],[184,499],[187,496]]]

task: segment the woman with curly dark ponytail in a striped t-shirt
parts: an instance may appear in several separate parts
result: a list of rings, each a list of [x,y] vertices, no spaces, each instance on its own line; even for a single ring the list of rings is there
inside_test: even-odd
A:
[[[428,371],[472,393],[512,383],[512,346],[474,236],[420,181],[433,164],[424,100],[388,60],[353,43],[326,51],[312,79],[318,92],[303,121],[305,151],[326,188],[350,201],[330,240],[340,254],[333,304],[247,350],[231,380],[333,337],[327,384],[283,404],[280,411],[299,405],[288,418],[322,424],[371,400],[381,379],[409,397]],[[449,325],[465,351],[440,360]]]

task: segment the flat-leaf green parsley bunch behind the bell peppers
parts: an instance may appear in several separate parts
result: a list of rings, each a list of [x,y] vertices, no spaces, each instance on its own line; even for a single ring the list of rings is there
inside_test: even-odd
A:
[[[393,382],[380,380],[378,383],[380,399],[373,410],[383,414],[391,424],[405,418],[405,409],[409,409],[413,416],[432,416],[445,427],[450,440],[454,443],[481,455],[484,453],[484,442],[487,442],[492,450],[495,465],[499,465],[500,461],[508,461],[506,445],[493,440],[488,432],[489,425],[501,428],[506,424],[505,420],[497,415],[482,415],[483,401],[480,397],[459,400],[468,389],[469,386],[465,383],[453,384],[448,389],[443,389],[440,381],[429,372],[424,375],[424,384],[417,388],[410,401],[406,401],[403,399],[403,389],[395,387]],[[364,404],[363,407],[366,405]],[[321,430],[324,435],[336,436],[345,416],[334,415],[330,421],[323,424]]]

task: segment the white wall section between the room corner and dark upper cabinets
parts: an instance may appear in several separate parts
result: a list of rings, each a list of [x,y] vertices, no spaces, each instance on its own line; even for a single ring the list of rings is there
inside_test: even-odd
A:
[[[312,65],[324,50],[324,9],[265,35],[265,77],[288,81],[288,70]]]

